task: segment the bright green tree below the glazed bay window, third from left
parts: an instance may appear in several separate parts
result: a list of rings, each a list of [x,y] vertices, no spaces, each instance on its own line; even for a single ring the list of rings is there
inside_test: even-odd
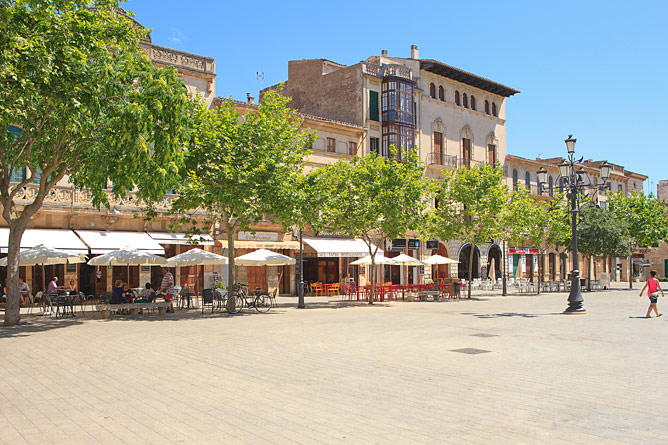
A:
[[[342,159],[310,174],[310,194],[315,194],[311,202],[319,202],[321,209],[317,214],[311,212],[308,222],[316,230],[328,228],[364,241],[371,256],[371,295],[376,286],[378,250],[387,240],[419,230],[431,200],[432,183],[424,175],[417,152],[417,148],[409,150],[397,161],[397,151],[391,146],[388,158],[370,153],[351,161]]]

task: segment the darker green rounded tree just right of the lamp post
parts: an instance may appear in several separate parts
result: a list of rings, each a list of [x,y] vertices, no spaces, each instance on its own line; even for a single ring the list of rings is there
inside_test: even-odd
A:
[[[578,250],[583,256],[617,257],[629,250],[629,232],[625,220],[614,213],[593,205],[584,205],[578,223]],[[591,282],[591,268],[587,268],[587,283]],[[588,284],[589,286],[589,284]]]

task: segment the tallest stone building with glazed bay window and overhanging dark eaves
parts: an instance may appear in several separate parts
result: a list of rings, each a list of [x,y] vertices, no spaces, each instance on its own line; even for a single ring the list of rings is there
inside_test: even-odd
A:
[[[518,91],[436,60],[421,59],[418,47],[412,45],[408,58],[391,57],[383,50],[351,66],[327,59],[290,61],[283,93],[300,112],[366,128],[360,155],[391,156],[389,146],[395,145],[400,147],[396,155],[400,159],[402,150],[418,147],[427,165],[425,174],[438,179],[444,169],[503,164],[505,101]],[[439,266],[440,277],[467,273],[468,244],[432,240],[427,248],[409,236],[394,246],[386,247],[417,258],[439,253],[460,261],[459,268]],[[473,278],[485,272],[492,258],[500,265],[498,243],[477,246],[476,251]],[[394,277],[392,268],[385,269],[392,281],[401,283],[418,283],[432,275],[428,266],[420,276],[404,271],[403,276]]]

